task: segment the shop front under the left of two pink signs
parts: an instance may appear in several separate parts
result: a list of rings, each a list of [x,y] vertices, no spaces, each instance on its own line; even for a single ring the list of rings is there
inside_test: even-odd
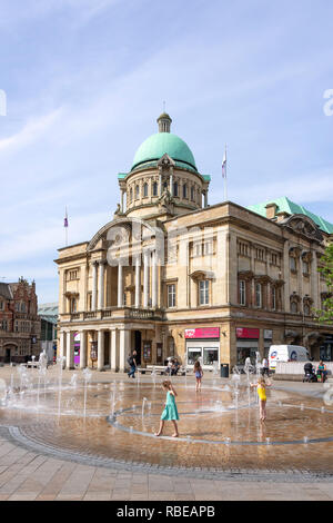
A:
[[[199,359],[203,369],[212,371],[220,362],[220,328],[185,328],[186,365]]]

